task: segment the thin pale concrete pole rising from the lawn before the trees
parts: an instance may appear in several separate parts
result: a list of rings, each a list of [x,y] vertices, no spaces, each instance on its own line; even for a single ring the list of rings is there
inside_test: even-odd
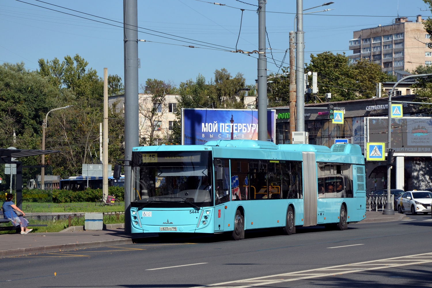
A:
[[[108,198],[108,68],[104,68],[104,143],[102,160],[102,193]]]

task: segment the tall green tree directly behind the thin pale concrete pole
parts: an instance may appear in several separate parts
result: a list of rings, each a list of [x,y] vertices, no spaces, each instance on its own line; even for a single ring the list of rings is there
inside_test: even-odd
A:
[[[56,107],[73,105],[72,108],[50,113],[46,128],[46,149],[60,153],[46,155],[46,161],[53,165],[54,174],[63,177],[79,174],[82,163],[95,161],[90,154],[98,155],[99,123],[103,121],[103,79],[97,71],[88,68],[88,62],[76,54],[66,56],[64,61],[39,60],[38,73],[59,91]],[[123,92],[121,78],[108,76],[111,95]],[[122,158],[124,120],[115,109],[110,109],[108,121],[109,161]],[[96,163],[98,161],[96,160]]]

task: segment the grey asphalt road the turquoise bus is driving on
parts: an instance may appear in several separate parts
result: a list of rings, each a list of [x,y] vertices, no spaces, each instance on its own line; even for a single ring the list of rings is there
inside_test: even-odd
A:
[[[9,287],[432,287],[431,215],[345,231],[254,231],[2,259]],[[422,254],[422,255],[418,255]],[[216,284],[216,285],[215,285]]]

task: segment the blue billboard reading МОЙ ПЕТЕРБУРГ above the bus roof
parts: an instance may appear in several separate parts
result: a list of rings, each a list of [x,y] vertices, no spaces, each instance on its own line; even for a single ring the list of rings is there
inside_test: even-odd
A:
[[[258,140],[258,110],[181,109],[181,144],[202,145],[211,140]],[[276,110],[267,110],[267,139],[276,141]]]

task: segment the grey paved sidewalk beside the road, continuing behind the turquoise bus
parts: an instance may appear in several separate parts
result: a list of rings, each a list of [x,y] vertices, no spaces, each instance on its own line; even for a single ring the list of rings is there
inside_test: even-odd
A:
[[[382,212],[367,211],[366,218],[359,223],[398,221],[403,218],[406,216],[397,212],[394,215],[382,215]],[[83,231],[83,226],[73,226],[57,233],[1,234],[0,258],[133,243],[132,235],[124,233],[123,224],[104,225],[104,228],[106,230]]]

